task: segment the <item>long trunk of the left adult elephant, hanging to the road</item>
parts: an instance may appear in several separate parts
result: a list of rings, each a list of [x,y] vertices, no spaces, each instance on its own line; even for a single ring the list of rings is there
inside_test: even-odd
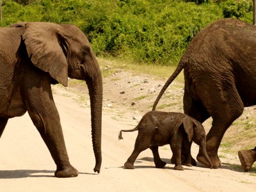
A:
[[[97,61],[96,61],[97,62]],[[95,156],[94,172],[100,172],[102,163],[101,156],[101,127],[102,127],[102,76],[99,65],[95,69],[95,75],[86,79],[91,104],[91,120],[92,120],[92,143]]]

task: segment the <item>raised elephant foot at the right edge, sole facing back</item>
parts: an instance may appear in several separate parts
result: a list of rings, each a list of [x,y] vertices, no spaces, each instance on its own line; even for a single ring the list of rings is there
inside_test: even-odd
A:
[[[252,164],[256,161],[256,151],[255,150],[239,150],[238,151],[239,160],[245,172],[248,172],[252,167]]]

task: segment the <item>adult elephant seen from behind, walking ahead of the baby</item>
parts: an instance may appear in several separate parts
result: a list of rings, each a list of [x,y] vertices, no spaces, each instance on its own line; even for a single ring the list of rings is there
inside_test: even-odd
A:
[[[218,148],[228,127],[242,113],[244,107],[256,104],[256,26],[237,19],[213,22],[188,45],[179,65],[166,81],[156,101],[184,69],[184,113],[199,122],[212,116],[207,134],[207,153],[212,166],[218,168]],[[256,161],[256,150],[242,153],[242,165]],[[190,148],[185,159],[189,159]],[[209,166],[199,152],[197,160]],[[192,161],[195,164],[195,160]],[[244,166],[243,166],[244,167]]]

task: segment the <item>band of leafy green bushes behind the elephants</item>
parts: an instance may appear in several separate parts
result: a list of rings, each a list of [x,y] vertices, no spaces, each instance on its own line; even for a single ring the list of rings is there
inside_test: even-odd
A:
[[[223,17],[252,23],[250,0],[3,0],[1,26],[76,24],[98,56],[177,65],[193,36]]]

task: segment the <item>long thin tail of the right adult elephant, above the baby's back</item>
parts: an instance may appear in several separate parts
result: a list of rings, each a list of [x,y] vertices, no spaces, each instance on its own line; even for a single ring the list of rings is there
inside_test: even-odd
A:
[[[161,97],[163,96],[163,93],[165,92],[165,90],[168,88],[168,86],[172,83],[172,81],[180,74],[180,72],[182,71],[182,69],[185,66],[185,61],[184,60],[180,60],[177,68],[175,69],[175,71],[173,72],[172,76],[170,76],[170,78],[166,81],[166,83],[164,84],[162,90],[160,91],[160,93],[157,96],[157,99],[154,102],[152,111],[156,111],[156,106],[159,102],[159,100],[161,99]]]

